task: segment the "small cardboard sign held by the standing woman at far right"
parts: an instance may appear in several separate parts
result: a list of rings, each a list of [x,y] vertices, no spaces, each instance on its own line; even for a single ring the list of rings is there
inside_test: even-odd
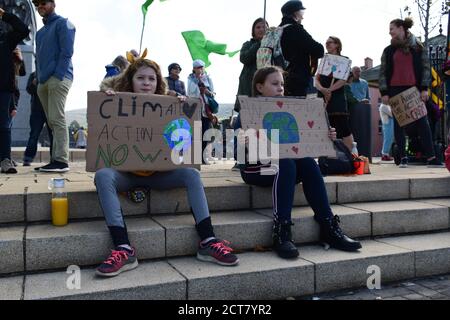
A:
[[[427,115],[427,108],[416,87],[409,88],[389,99],[392,114],[400,127],[404,127]]]

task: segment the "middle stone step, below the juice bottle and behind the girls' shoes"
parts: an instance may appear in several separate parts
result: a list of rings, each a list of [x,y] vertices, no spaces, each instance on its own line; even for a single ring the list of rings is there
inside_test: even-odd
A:
[[[444,201],[444,200],[441,200]],[[450,201],[450,199],[449,199]],[[448,230],[448,206],[420,201],[392,201],[332,205],[342,229],[351,237],[374,237]],[[298,244],[318,241],[319,227],[309,207],[296,207],[293,236]],[[271,246],[272,211],[217,212],[212,214],[215,233],[231,241],[236,250]],[[130,241],[141,259],[195,255],[198,236],[191,214],[128,217]],[[0,228],[0,274],[96,265],[112,248],[103,220]],[[24,237],[25,232],[25,237]],[[23,244],[25,238],[25,246]],[[12,258],[11,258],[12,257]]]

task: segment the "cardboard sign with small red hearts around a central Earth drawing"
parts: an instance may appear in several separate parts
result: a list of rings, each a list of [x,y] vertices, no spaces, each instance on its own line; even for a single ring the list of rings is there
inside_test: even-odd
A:
[[[265,129],[270,141],[270,130],[279,130],[280,159],[336,157],[328,137],[328,116],[322,99],[239,96],[239,102],[242,129]]]

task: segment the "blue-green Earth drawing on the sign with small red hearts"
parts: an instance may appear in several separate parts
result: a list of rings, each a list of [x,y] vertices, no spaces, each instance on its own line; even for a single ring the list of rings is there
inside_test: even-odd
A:
[[[299,143],[298,124],[294,116],[287,112],[269,112],[264,116],[263,128],[267,130],[267,136],[272,141],[270,130],[278,129],[279,144]],[[276,141],[273,141],[276,143]]]

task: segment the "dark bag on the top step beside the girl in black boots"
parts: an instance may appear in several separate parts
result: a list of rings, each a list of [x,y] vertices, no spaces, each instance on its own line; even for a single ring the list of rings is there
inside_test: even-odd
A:
[[[342,140],[335,140],[336,158],[319,157],[319,168],[322,175],[353,173],[353,156]]]

